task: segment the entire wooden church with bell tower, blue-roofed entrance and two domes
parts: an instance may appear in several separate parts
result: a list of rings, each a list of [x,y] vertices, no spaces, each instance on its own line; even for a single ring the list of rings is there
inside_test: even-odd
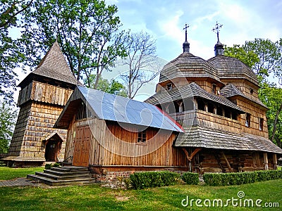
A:
[[[268,139],[257,77],[240,60],[183,53],[161,70],[145,102],[87,89],[57,43],[20,83],[13,162],[68,158],[110,176],[133,171],[240,172],[276,169],[282,149]],[[74,90],[74,91],[73,91]]]

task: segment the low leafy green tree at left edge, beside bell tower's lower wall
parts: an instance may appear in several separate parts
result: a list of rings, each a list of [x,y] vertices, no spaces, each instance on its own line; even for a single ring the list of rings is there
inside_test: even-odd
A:
[[[17,111],[11,110],[9,103],[0,102],[0,153],[8,153],[17,115]]]

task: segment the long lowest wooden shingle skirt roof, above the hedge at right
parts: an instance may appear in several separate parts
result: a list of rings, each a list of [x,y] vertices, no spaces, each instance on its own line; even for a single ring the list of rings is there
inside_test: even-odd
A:
[[[282,154],[281,148],[262,136],[235,134],[200,125],[185,127],[185,133],[178,135],[175,146]]]

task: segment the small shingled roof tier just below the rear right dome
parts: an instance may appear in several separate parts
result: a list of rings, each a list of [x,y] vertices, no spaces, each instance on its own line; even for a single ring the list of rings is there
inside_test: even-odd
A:
[[[243,98],[248,99],[249,101],[255,102],[264,108],[267,108],[262,101],[259,101],[259,98],[249,98],[245,96],[234,84],[226,84],[225,87],[221,89],[221,95],[225,96],[226,98],[231,98],[233,96],[241,96]]]

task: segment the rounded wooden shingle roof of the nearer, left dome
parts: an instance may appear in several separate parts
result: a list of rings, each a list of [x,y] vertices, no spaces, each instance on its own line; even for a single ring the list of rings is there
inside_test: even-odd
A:
[[[178,58],[164,65],[159,82],[165,82],[177,77],[209,77],[220,82],[214,65],[188,52],[181,53]]]

